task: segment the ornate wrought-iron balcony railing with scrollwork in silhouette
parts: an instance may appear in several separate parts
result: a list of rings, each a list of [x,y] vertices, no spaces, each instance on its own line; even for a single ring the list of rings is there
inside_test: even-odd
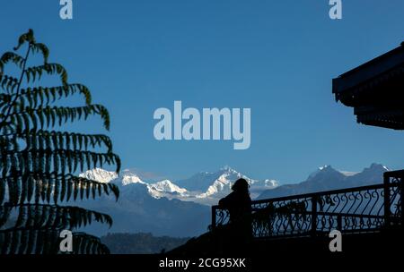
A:
[[[384,173],[384,183],[251,202],[253,236],[271,238],[379,231],[402,225],[404,170]],[[229,223],[229,212],[212,207],[212,230]]]

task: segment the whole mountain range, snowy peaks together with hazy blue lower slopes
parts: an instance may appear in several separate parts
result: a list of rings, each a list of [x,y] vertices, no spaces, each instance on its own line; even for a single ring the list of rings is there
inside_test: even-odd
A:
[[[143,181],[136,173],[123,171],[119,176],[103,169],[87,171],[82,176],[101,183],[116,183],[120,197],[83,201],[83,206],[113,217],[111,229],[92,226],[94,234],[152,233],[174,237],[195,236],[206,232],[210,224],[210,205],[227,195],[238,178],[250,183],[252,199],[267,199],[312,191],[328,191],[382,183],[382,173],[388,168],[373,164],[360,173],[338,171],[323,166],[303,183],[279,185],[275,180],[254,180],[230,167],[215,173],[200,172],[180,181]]]

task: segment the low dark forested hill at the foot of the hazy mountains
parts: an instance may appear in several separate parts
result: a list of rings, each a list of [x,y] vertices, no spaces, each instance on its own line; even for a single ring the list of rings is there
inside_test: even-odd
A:
[[[153,234],[107,234],[101,237],[112,254],[155,254],[171,251],[187,242],[189,238],[169,236],[155,237]]]

